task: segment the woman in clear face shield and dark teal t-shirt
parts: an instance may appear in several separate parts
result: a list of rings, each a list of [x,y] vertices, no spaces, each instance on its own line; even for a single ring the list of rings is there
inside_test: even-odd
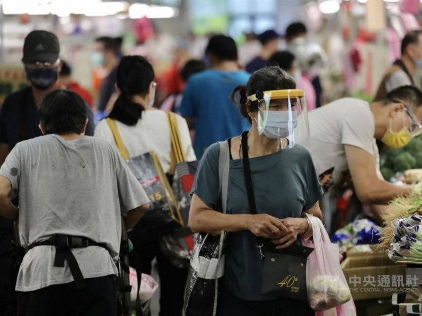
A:
[[[195,232],[228,232],[223,289],[217,315],[314,315],[305,302],[263,294],[263,261],[257,238],[278,249],[310,237],[306,215],[322,218],[322,195],[310,153],[295,144],[297,120],[305,119],[303,90],[278,66],[256,71],[238,86],[240,113],[252,123],[249,131],[228,140],[230,167],[227,214],[218,208],[218,144],[211,145],[199,165],[189,215]],[[247,146],[246,146],[247,145]],[[249,157],[257,214],[251,214],[243,157]],[[289,264],[285,262],[284,264]],[[280,266],[283,269],[283,266]]]

